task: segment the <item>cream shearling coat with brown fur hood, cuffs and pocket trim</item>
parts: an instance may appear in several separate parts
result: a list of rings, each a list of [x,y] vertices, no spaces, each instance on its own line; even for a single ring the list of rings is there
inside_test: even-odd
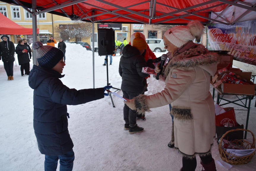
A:
[[[185,156],[207,154],[215,136],[215,109],[209,92],[210,75],[217,69],[218,55],[195,45],[166,65],[166,86],[153,95],[135,98],[136,110],[171,104],[174,115],[174,146]]]

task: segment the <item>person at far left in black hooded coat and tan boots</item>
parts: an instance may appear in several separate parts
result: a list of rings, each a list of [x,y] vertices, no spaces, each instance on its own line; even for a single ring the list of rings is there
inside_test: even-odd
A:
[[[9,41],[9,37],[4,34],[0,42],[0,60],[4,63],[4,69],[8,76],[8,81],[13,80],[13,62],[15,61],[14,53],[15,46],[12,41]]]

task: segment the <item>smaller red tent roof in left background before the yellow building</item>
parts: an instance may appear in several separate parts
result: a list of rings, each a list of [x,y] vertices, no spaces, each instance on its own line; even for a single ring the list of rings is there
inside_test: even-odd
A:
[[[20,26],[17,23],[13,22],[9,18],[5,17],[0,12],[0,34],[8,34],[8,35],[28,35],[33,34],[32,29],[28,29],[26,27]],[[39,33],[39,29],[37,29],[37,33]]]

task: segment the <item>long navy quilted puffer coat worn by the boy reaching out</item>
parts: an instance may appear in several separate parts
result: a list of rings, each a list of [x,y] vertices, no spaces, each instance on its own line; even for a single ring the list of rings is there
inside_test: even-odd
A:
[[[59,78],[64,77],[53,69],[34,65],[28,84],[34,89],[34,131],[39,151],[57,156],[71,151],[67,105],[79,105],[104,97],[104,88],[70,89]]]

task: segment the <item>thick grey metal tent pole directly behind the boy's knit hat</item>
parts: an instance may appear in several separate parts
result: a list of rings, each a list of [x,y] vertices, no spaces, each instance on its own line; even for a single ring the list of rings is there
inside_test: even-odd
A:
[[[35,12],[36,12],[36,0],[32,0],[32,28],[33,28],[33,43],[36,42],[36,41],[39,41],[37,40],[37,25],[36,25],[36,15],[35,15]],[[34,52],[34,55],[33,55],[33,64],[34,65],[38,65],[37,63],[37,60],[36,60],[36,52]]]

